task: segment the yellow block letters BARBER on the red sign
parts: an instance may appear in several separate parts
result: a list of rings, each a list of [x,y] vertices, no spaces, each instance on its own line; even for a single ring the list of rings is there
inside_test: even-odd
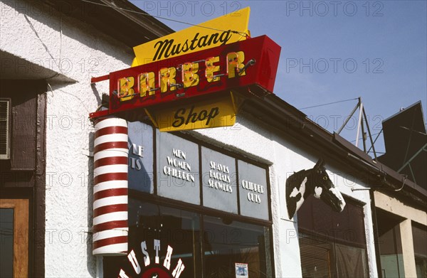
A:
[[[207,82],[218,82],[221,77],[235,78],[246,75],[246,69],[243,70],[245,68],[243,51],[228,53],[225,58],[227,61],[225,73],[220,73],[221,66],[218,65],[220,56],[215,56],[183,63],[176,67],[161,68],[157,73],[157,82],[154,72],[119,78],[117,80],[117,97],[120,102],[125,102],[132,100],[136,95],[150,97],[155,96],[157,91],[167,93],[179,88],[194,87],[199,85],[200,78],[205,78]],[[199,73],[200,63],[204,63],[204,74]],[[177,74],[177,72],[181,74]]]

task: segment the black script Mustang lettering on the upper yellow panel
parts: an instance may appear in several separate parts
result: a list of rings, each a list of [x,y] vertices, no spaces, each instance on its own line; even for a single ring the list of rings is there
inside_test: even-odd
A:
[[[220,42],[221,46],[225,45],[228,40],[231,38],[231,30],[223,31],[221,35],[219,33],[213,33],[210,36],[201,36],[199,38],[200,33],[196,33],[194,38],[189,43],[187,39],[185,43],[182,44],[174,44],[174,39],[158,41],[154,48],[156,48],[156,54],[154,54],[153,61],[168,58],[170,55],[178,55],[179,53],[186,53],[189,50],[196,50],[197,48],[204,48],[206,46],[211,46],[212,43],[216,45],[216,43]]]

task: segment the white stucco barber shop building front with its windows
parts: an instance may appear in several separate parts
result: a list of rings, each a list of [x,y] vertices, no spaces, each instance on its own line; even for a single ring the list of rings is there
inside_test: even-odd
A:
[[[173,31],[127,1],[93,2],[102,6],[1,1],[1,275],[425,277],[425,185],[275,95],[248,97],[233,127],[159,132],[122,120],[125,170],[108,168],[100,145],[112,126],[88,115],[110,88],[91,78],[129,68],[132,46]],[[290,215],[287,197],[301,191],[287,191],[288,179],[321,159],[344,210],[316,189]],[[127,173],[113,197],[127,201],[109,204],[128,229],[107,242],[95,235],[112,213],[100,205],[112,200],[102,179],[112,169]],[[125,241],[121,256],[96,255]]]

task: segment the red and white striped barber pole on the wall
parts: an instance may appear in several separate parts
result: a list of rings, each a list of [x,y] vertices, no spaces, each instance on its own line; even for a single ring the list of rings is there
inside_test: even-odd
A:
[[[127,122],[95,122],[93,255],[127,254]]]

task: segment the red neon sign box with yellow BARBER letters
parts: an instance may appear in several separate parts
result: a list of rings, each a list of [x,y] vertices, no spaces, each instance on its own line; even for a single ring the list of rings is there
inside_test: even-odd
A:
[[[132,109],[164,107],[202,95],[211,98],[231,90],[265,95],[273,92],[279,55],[280,46],[259,36],[119,70],[106,77],[110,80],[109,109],[90,117],[120,113],[126,118]]]

